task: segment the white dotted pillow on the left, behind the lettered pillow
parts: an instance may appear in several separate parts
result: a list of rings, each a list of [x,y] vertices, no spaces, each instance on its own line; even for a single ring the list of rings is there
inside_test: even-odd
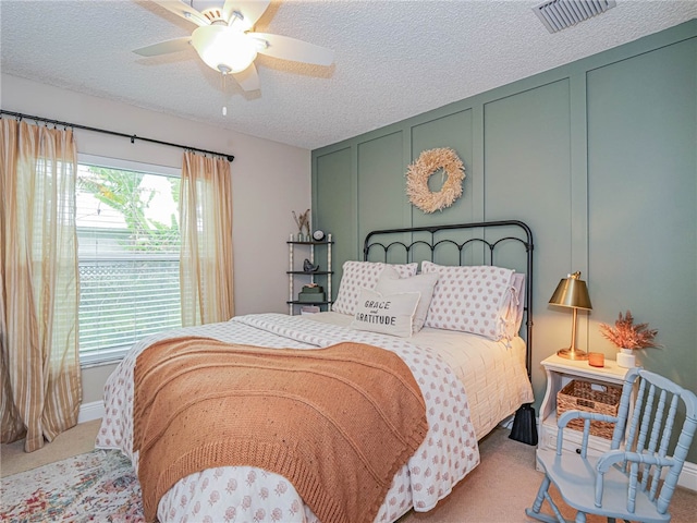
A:
[[[375,289],[380,272],[387,266],[388,264],[382,262],[345,262],[332,311],[353,315],[356,312],[356,305],[358,305],[360,289]],[[418,264],[393,264],[391,267],[394,267],[402,278],[406,278],[416,275]]]

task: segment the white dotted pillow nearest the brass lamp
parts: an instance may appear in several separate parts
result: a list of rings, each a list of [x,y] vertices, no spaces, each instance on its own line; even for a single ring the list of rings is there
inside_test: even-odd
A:
[[[425,327],[506,337],[513,302],[511,269],[490,266],[449,267],[421,263],[421,272],[438,273]]]

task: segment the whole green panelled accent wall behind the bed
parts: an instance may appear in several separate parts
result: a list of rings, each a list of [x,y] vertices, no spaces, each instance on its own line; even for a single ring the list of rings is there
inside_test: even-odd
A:
[[[425,214],[404,174],[435,147],[455,149],[466,178],[452,207]],[[313,218],[337,242],[334,296],[369,230],[525,221],[536,406],[539,362],[571,341],[571,314],[548,301],[575,270],[594,305],[579,348],[613,360],[599,324],[631,309],[662,345],[638,351],[640,364],[697,391],[697,20],[314,150]]]

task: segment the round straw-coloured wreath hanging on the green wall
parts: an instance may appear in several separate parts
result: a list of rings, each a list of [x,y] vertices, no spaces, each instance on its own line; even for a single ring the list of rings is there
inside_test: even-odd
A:
[[[432,193],[428,188],[428,179],[441,169],[448,178],[441,190]],[[424,212],[443,210],[462,196],[464,179],[465,166],[453,149],[425,150],[406,171],[406,194],[409,202]]]

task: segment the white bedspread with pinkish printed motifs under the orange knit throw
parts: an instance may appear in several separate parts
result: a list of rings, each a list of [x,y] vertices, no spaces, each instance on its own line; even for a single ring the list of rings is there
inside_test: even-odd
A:
[[[464,386],[438,354],[401,338],[356,331],[302,316],[259,314],[156,335],[133,346],[105,387],[105,416],[96,446],[122,450],[136,469],[138,457],[132,452],[136,357],[155,341],[181,336],[292,349],[322,348],[352,340],[399,354],[421,389],[429,431],[424,443],[396,474],[377,522],[395,521],[412,506],[417,511],[430,510],[479,463]],[[248,466],[209,469],[181,479],[160,500],[158,519],[161,522],[317,521],[290,482]]]

